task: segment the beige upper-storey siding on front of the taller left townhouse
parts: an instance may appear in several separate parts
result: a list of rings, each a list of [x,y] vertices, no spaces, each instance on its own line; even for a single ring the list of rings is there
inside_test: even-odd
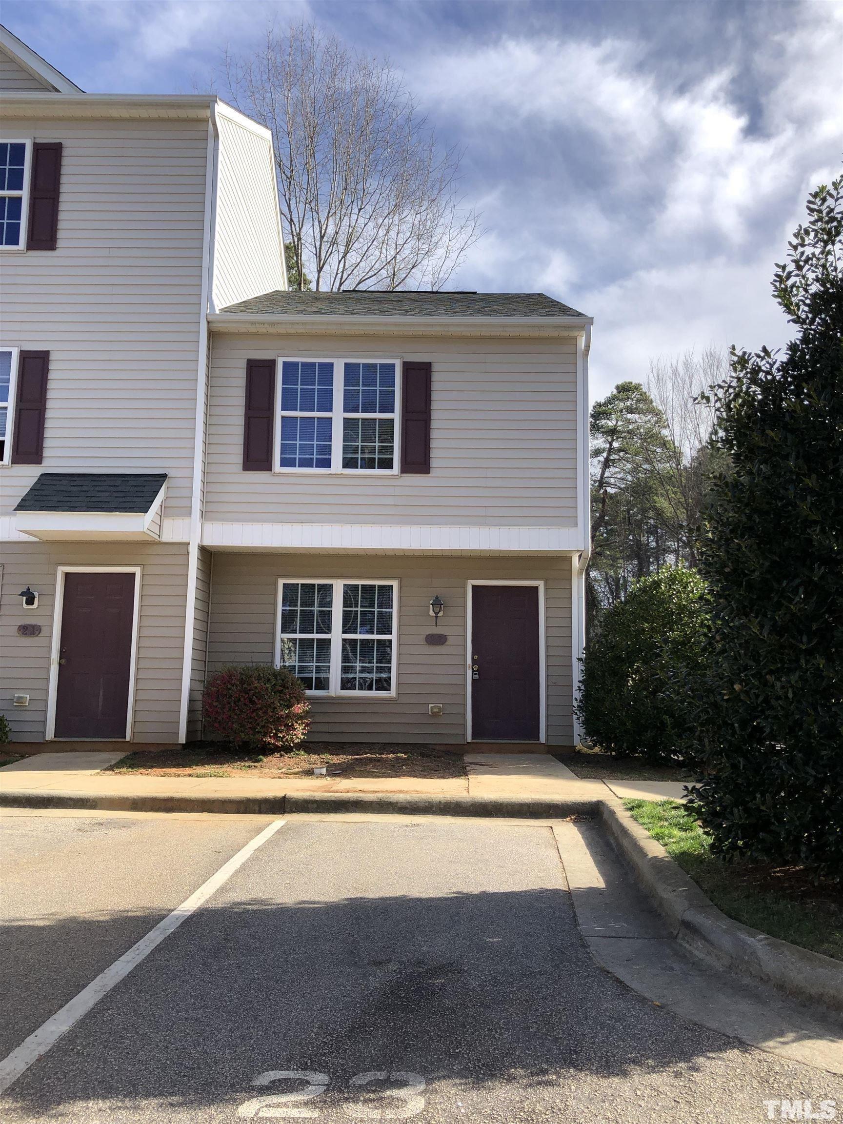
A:
[[[0,120],[0,133],[63,144],[57,250],[2,260],[0,343],[51,364],[44,463],[0,469],[0,515],[39,471],[164,471],[164,517],[188,516],[208,125]]]

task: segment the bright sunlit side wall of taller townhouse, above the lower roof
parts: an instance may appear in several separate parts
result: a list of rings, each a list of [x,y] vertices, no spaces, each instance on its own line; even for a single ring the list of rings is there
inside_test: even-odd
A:
[[[272,142],[217,112],[219,164],[214,252],[217,309],[284,289]]]

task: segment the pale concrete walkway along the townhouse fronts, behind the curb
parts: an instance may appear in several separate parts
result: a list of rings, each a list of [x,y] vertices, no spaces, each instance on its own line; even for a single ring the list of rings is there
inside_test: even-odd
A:
[[[681,800],[673,781],[580,780],[549,753],[466,753],[466,777],[149,777],[106,773],[120,753],[37,753],[0,768],[0,795],[20,791],[88,792],[94,796],[283,796],[285,792],[368,792],[414,796],[477,796],[600,799],[608,788],[623,799]],[[202,771],[201,768],[197,772]],[[212,772],[212,767],[207,768]]]

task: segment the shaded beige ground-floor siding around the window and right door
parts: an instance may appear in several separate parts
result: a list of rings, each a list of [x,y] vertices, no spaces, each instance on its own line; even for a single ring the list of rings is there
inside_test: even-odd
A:
[[[271,663],[279,578],[396,579],[399,586],[398,692],[395,699],[314,699],[312,740],[434,742],[465,740],[465,613],[469,580],[543,580],[546,598],[547,742],[573,743],[571,715],[571,560],[338,558],[216,552],[208,670],[227,663]],[[433,631],[430,598],[445,602]],[[441,703],[442,717],[428,714]]]

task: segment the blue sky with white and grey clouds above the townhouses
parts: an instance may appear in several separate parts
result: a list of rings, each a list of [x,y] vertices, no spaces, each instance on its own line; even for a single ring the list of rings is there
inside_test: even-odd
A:
[[[388,55],[487,233],[453,288],[543,290],[595,317],[592,395],[659,355],[781,345],[773,263],[837,174],[833,0],[3,0],[88,91],[192,92],[268,20]]]

